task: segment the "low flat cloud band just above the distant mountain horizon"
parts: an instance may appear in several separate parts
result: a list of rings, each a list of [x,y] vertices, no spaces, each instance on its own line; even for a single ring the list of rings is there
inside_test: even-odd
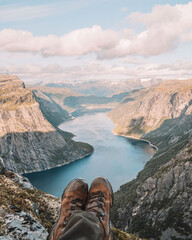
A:
[[[142,64],[138,66],[101,64],[91,62],[84,65],[65,67],[59,64],[9,64],[0,67],[1,73],[16,74],[26,82],[35,81],[78,81],[78,80],[121,80],[128,78],[192,78],[192,61],[171,64]]]

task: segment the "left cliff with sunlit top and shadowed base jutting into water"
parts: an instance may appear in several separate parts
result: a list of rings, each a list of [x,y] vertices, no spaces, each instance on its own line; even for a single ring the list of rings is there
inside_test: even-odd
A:
[[[7,169],[19,173],[41,171],[92,151],[90,145],[74,142],[56,130],[21,80],[0,75],[0,156]]]

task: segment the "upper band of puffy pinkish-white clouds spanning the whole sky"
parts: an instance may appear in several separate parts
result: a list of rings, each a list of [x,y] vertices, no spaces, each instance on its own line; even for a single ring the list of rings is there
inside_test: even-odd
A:
[[[100,59],[130,55],[153,56],[172,51],[192,41],[192,2],[175,6],[155,6],[151,13],[133,13],[132,23],[144,30],[103,30],[100,26],[74,30],[61,37],[33,36],[27,31],[0,31],[0,51],[30,52],[48,56],[82,56],[95,53]]]

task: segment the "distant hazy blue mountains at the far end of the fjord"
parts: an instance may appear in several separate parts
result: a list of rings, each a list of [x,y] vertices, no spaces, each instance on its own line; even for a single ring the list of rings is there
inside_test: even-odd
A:
[[[33,90],[43,114],[55,127],[72,117],[109,111],[129,95],[129,92],[121,92],[111,97],[82,96],[64,87],[30,86],[30,89]]]

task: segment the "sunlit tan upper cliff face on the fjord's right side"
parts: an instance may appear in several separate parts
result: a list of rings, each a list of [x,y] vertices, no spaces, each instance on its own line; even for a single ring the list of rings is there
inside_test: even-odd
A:
[[[157,129],[166,119],[175,119],[192,111],[192,80],[164,81],[149,89],[133,92],[109,113],[114,131],[142,137]],[[187,109],[186,109],[187,108]]]

